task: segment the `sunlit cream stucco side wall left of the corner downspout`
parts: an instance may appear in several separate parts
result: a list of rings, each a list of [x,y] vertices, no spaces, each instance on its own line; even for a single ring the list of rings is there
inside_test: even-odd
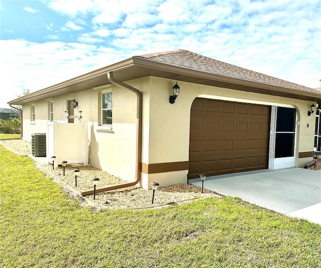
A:
[[[24,105],[24,139],[30,142],[32,133],[46,133],[49,101],[53,102],[54,120],[65,122],[68,100],[76,99],[78,106],[74,109],[74,115],[81,110],[82,121],[88,122],[89,164],[106,170],[114,176],[133,181],[136,163],[136,95],[119,87],[111,88],[113,93],[112,131],[104,131],[99,127],[99,105],[100,95],[105,91],[88,89],[48,101],[35,102],[33,103],[36,110],[35,123],[30,122],[30,105]],[[77,119],[74,119],[74,122],[77,122]]]

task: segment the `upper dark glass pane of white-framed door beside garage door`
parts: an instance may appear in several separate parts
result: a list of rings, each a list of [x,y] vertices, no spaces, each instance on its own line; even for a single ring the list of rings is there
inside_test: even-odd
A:
[[[276,132],[295,131],[295,109],[277,107]]]

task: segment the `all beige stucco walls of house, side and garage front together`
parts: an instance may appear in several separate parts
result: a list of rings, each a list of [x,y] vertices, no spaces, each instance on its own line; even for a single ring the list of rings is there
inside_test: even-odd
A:
[[[189,161],[190,111],[195,98],[257,103],[294,107],[297,110],[295,165],[306,163],[308,158],[298,158],[298,152],[313,150],[314,114],[307,116],[311,102],[273,97],[257,93],[197,85],[178,81],[180,95],[175,104],[169,103],[176,81],[145,77],[125,82],[143,94],[142,110],[142,163],[159,164]],[[54,120],[63,122],[67,101],[78,101],[82,121],[88,122],[88,159],[91,166],[101,168],[122,179],[135,179],[136,157],[136,95],[114,86],[106,89],[113,93],[112,130],[99,126],[100,95],[105,90],[86,91],[53,98]],[[35,103],[36,122],[30,123],[30,105],[24,105],[24,139],[31,141],[32,133],[46,132],[48,101]],[[307,128],[309,124],[309,128]],[[141,186],[150,187],[157,181],[161,186],[187,182],[188,170],[142,174]]]

